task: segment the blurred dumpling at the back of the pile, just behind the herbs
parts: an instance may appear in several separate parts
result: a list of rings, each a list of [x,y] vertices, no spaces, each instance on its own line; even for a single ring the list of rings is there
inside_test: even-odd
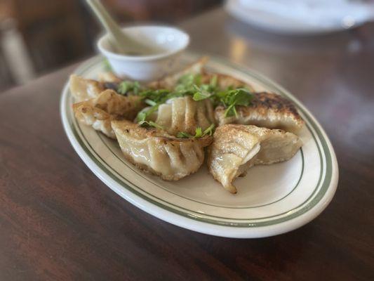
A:
[[[181,77],[186,74],[202,74],[203,67],[206,65],[208,61],[208,57],[202,57],[197,60],[195,63],[188,65],[180,72],[176,72],[175,74],[168,75],[161,80],[153,81],[148,84],[149,88],[152,89],[168,89],[173,90],[175,86],[178,84],[178,81]]]

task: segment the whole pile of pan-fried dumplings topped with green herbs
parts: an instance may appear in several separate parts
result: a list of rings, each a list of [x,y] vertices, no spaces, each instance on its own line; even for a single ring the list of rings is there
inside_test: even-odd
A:
[[[74,115],[116,139],[129,162],[165,181],[195,173],[206,157],[213,178],[234,194],[235,178],[252,166],[292,158],[305,124],[290,100],[208,73],[206,61],[149,84],[111,72],[98,81],[72,75]]]

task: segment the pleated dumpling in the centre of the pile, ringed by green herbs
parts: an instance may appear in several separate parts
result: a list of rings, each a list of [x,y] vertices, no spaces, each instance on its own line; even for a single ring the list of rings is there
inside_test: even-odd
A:
[[[176,136],[179,132],[194,135],[196,128],[205,130],[215,123],[211,100],[195,101],[191,96],[173,98],[159,106],[149,119]]]

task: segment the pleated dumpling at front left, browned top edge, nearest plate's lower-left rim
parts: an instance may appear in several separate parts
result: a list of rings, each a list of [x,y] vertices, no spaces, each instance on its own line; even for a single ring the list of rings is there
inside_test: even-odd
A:
[[[175,138],[166,131],[126,120],[113,121],[112,128],[128,161],[166,181],[196,172],[203,164],[204,148],[212,141],[211,136]]]

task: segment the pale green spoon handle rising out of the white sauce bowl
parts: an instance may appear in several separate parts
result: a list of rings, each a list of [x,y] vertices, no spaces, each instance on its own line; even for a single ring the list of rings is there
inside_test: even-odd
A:
[[[88,6],[92,8],[93,12],[98,17],[105,30],[107,30],[107,32],[111,34],[111,39],[112,41],[114,41],[114,46],[116,46],[118,51],[126,52],[126,49],[123,48],[123,33],[121,27],[116,24],[105,7],[102,6],[100,0],[86,0],[86,2]]]

